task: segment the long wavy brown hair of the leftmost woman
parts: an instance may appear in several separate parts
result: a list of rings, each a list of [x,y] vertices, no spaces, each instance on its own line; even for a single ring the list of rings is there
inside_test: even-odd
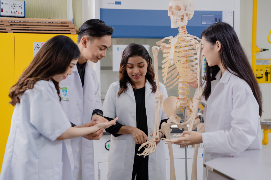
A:
[[[11,87],[8,94],[11,98],[9,103],[13,106],[20,103],[24,91],[33,89],[38,80],[52,80],[59,95],[59,82],[53,80],[52,76],[64,73],[70,62],[79,56],[78,46],[67,36],[54,36],[46,41],[17,83]],[[61,100],[60,96],[59,100]]]

